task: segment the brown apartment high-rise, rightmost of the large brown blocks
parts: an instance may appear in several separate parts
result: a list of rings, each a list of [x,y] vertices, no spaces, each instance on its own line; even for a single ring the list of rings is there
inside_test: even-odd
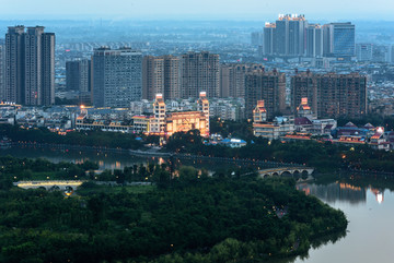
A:
[[[367,77],[358,73],[317,74],[317,117],[360,118],[367,115]]]

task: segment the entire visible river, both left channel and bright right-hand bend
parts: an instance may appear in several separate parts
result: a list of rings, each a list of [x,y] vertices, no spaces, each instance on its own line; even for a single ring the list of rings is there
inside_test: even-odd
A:
[[[59,151],[49,148],[0,150],[0,155],[14,157],[47,158],[51,162],[81,163],[97,162],[100,169],[121,169],[125,166],[161,163],[161,158],[140,158],[128,154]],[[200,166],[201,164],[188,164]],[[225,166],[225,165],[224,165]],[[375,180],[380,188],[354,180],[325,184],[303,183],[298,189],[305,194],[317,196],[335,208],[345,212],[349,225],[345,238],[337,242],[321,246],[309,251],[306,259],[290,260],[294,263],[370,263],[394,262],[394,193],[385,189],[382,181]],[[394,182],[390,182],[394,186]],[[393,188],[392,188],[393,189]],[[289,262],[289,261],[288,261]]]

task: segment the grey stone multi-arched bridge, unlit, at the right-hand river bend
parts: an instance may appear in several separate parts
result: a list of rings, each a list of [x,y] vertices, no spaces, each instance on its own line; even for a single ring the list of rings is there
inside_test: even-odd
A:
[[[258,170],[258,175],[263,178],[267,177],[299,177],[304,180],[311,179],[314,168],[312,167],[281,167]]]

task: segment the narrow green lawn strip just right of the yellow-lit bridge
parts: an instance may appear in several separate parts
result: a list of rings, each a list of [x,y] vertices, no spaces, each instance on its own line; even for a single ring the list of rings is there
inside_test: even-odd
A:
[[[155,189],[155,186],[124,186],[124,187],[109,187],[109,186],[89,186],[88,188],[81,187],[77,190],[80,195],[90,195],[94,193],[147,193]]]

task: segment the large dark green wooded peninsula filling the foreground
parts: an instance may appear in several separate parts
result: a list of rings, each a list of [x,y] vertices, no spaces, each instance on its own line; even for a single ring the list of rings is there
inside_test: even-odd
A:
[[[251,262],[305,253],[347,227],[292,179],[153,170],[159,183],[147,191],[0,190],[0,262]]]

